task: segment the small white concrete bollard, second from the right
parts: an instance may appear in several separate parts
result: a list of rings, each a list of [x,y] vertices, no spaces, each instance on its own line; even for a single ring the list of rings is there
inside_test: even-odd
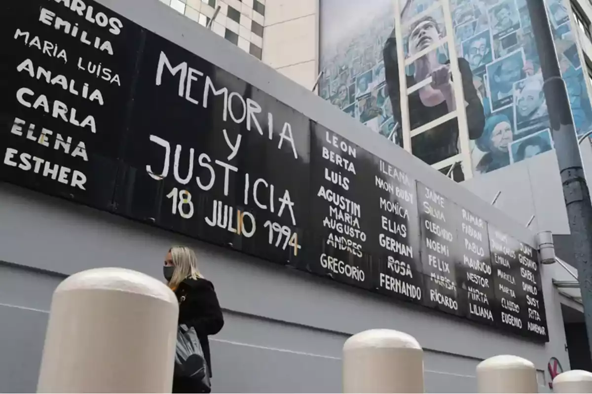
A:
[[[477,365],[478,393],[538,393],[535,364],[522,357],[490,357]]]

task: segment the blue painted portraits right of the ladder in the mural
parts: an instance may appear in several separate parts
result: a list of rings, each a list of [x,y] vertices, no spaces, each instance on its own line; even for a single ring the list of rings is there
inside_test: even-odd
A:
[[[592,126],[592,108],[569,15],[563,0],[546,5],[581,134]],[[549,112],[526,0],[452,0],[451,6],[456,50],[471,67],[485,112],[483,134],[471,141],[474,170],[490,172],[550,150]]]

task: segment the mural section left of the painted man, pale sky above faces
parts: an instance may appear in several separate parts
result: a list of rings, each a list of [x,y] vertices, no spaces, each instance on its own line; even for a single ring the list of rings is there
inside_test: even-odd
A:
[[[394,28],[392,0],[320,3],[319,94],[374,132],[402,145],[385,90],[382,50]]]

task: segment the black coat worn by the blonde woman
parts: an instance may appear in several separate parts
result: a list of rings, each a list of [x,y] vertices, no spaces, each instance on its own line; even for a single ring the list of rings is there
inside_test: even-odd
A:
[[[212,365],[208,335],[217,334],[224,326],[224,317],[214,291],[214,285],[207,279],[185,279],[179,284],[175,294],[177,299],[185,297],[179,304],[179,324],[195,328],[211,377]],[[173,388],[179,386],[178,383],[182,382],[173,382]]]

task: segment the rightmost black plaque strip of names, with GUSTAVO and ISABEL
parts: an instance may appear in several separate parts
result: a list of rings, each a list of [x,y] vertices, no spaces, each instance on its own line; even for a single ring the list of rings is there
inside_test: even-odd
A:
[[[525,295],[523,302],[523,320],[526,323],[527,335],[538,340],[549,340],[545,301],[540,281],[540,265],[538,251],[532,246],[520,242],[517,252],[520,263],[520,286]]]

